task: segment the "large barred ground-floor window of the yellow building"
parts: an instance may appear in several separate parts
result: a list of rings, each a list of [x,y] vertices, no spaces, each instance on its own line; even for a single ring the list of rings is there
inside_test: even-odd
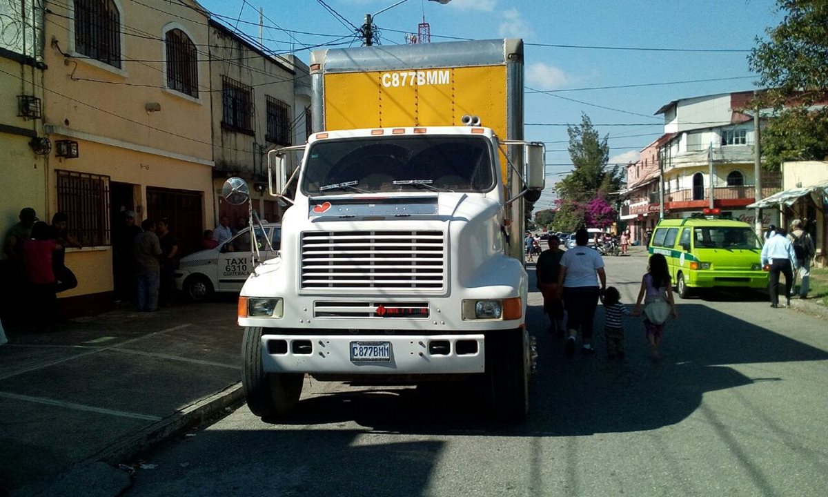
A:
[[[69,216],[69,229],[84,247],[112,244],[109,229],[109,176],[75,171],[57,173],[57,209]]]

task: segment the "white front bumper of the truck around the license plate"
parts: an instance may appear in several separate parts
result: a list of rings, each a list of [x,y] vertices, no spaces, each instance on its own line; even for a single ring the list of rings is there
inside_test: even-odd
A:
[[[361,345],[380,348],[383,357],[354,359],[353,347]],[[267,373],[484,373],[485,340],[466,334],[262,335],[262,368]]]

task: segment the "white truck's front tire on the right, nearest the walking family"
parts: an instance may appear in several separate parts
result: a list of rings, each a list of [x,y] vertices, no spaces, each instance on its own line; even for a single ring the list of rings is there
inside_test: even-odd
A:
[[[486,375],[493,414],[504,421],[522,421],[529,411],[529,378],[524,331],[486,334]]]

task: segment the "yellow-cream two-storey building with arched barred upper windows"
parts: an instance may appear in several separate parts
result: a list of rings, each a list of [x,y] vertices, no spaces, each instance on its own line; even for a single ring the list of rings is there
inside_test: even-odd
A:
[[[61,294],[61,307],[85,314],[117,297],[113,242],[126,211],[138,224],[169,218],[182,253],[200,249],[214,225],[209,17],[191,0],[65,0],[49,9],[46,211],[65,211],[84,245],[66,254],[79,286]]]

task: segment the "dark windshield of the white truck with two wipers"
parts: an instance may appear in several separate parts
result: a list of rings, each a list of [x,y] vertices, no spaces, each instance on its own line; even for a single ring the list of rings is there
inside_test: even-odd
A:
[[[489,140],[421,135],[315,142],[307,152],[306,195],[395,191],[489,191],[494,186]]]

